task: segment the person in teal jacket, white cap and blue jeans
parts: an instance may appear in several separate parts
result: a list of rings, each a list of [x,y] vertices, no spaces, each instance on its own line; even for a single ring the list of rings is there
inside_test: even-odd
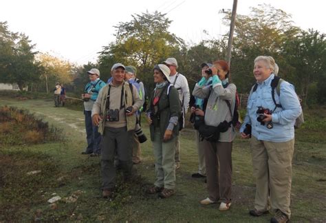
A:
[[[100,133],[98,133],[98,127],[91,123],[91,109],[93,108],[96,98],[98,98],[98,92],[105,86],[105,83],[100,80],[100,71],[98,69],[92,68],[87,74],[89,83],[85,85],[84,94],[82,94],[82,99],[84,100],[87,147],[82,154],[100,156],[101,136]]]

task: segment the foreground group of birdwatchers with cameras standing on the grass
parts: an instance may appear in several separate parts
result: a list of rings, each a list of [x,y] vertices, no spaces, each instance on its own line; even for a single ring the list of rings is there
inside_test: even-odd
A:
[[[251,138],[252,163],[257,178],[254,209],[250,210],[250,215],[274,211],[271,222],[287,222],[290,219],[294,122],[301,114],[301,105],[294,86],[286,81],[281,82],[280,93],[273,92],[272,96],[270,83],[275,72],[276,63],[271,56],[258,56],[254,60],[257,83],[250,92],[240,134],[242,138]],[[180,168],[180,130],[184,127],[191,98],[186,77],[177,72],[177,60],[169,58],[153,67],[155,89],[146,110],[143,109],[144,86],[135,77],[135,67],[114,64],[107,84],[99,80],[97,69],[91,69],[88,74],[91,81],[83,97],[89,98],[85,101],[85,122],[93,123],[89,130],[93,141],[89,141],[87,130],[87,142],[93,145],[88,143],[83,153],[101,155],[102,196],[111,197],[118,167],[128,180],[133,164],[140,162],[139,143],[146,140],[140,127],[140,112],[146,111],[156,173],[153,187],[149,187],[147,193],[169,198],[175,193],[175,171]],[[226,61],[202,63],[202,77],[193,89],[191,105],[199,161],[198,172],[192,176],[206,178],[208,197],[200,203],[219,202],[220,211],[231,206],[232,142],[236,136],[232,119],[237,87],[230,83],[229,75]],[[275,106],[274,100],[281,106]],[[271,112],[261,114],[258,110],[262,108]],[[99,141],[96,141],[97,136]]]

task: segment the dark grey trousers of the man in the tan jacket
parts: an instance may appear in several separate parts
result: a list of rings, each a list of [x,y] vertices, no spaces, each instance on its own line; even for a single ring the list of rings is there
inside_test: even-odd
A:
[[[127,127],[105,127],[102,138],[102,189],[113,189],[116,186],[115,156],[118,157],[119,167],[124,178],[130,178],[133,162],[131,160],[133,150],[131,147],[134,131],[127,131]]]

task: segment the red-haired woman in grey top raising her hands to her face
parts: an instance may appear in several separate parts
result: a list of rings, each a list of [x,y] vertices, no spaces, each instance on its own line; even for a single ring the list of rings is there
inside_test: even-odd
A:
[[[207,80],[203,77],[193,89],[194,96],[208,98],[205,128],[199,127],[205,151],[208,198],[200,203],[221,202],[219,211],[227,211],[231,206],[232,142],[235,139],[231,123],[237,87],[228,80],[230,68],[226,61],[215,61],[211,70],[212,85],[205,85]]]

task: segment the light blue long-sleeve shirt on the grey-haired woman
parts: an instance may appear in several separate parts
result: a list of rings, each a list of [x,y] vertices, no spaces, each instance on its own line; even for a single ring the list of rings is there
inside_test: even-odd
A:
[[[301,105],[294,91],[294,86],[287,81],[282,81],[280,85],[280,95],[274,92],[276,103],[282,107],[276,107],[272,99],[272,87],[270,83],[274,79],[274,74],[271,74],[262,83],[257,83],[256,91],[252,92],[248,98],[247,114],[241,126],[240,132],[246,127],[246,124],[252,126],[252,136],[258,140],[270,142],[286,142],[294,138],[294,123],[296,118],[301,114]],[[258,107],[270,109],[272,112],[273,128],[268,129],[266,125],[261,125],[257,121]]]

